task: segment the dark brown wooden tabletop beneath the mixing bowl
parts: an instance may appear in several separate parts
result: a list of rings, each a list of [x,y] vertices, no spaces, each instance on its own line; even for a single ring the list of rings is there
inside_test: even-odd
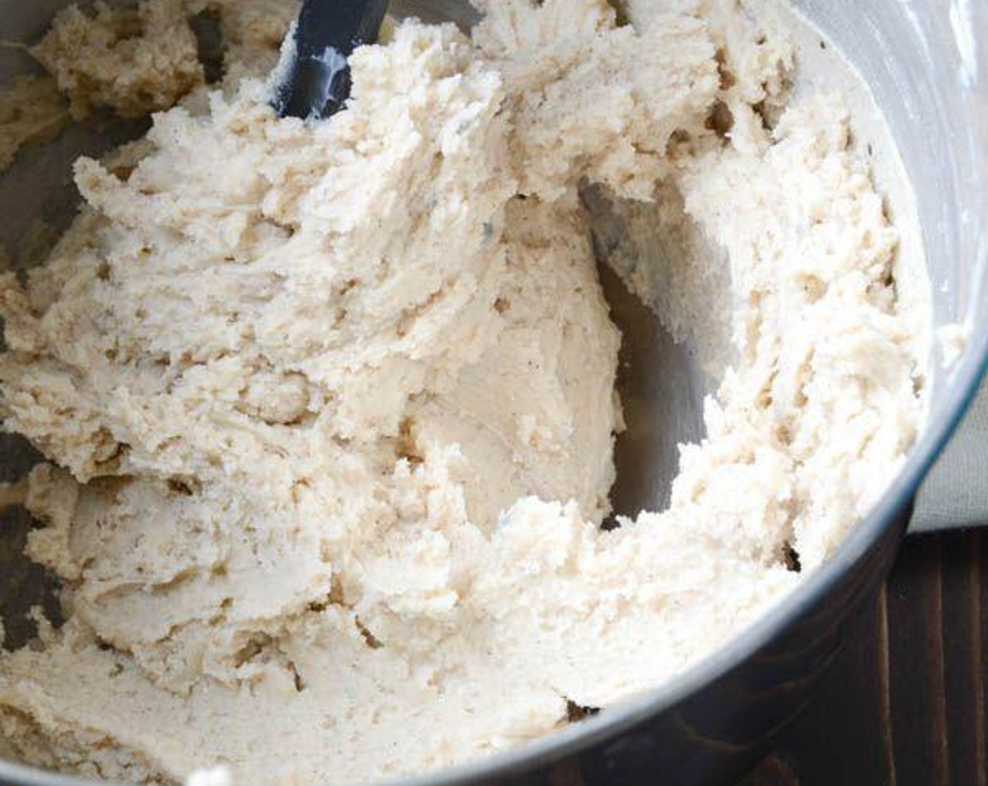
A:
[[[988,786],[988,528],[911,536],[743,786]]]

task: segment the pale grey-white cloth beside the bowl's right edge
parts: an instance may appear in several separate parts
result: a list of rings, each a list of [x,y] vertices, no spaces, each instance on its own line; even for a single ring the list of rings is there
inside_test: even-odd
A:
[[[988,378],[920,488],[912,532],[988,525]]]

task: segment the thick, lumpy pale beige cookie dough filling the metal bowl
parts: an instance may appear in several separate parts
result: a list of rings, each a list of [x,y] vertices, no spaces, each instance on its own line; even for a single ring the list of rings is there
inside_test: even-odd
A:
[[[921,424],[918,249],[841,96],[791,90],[788,17],[490,0],[472,41],[359,49],[349,108],[306,125],[268,105],[272,5],[211,4],[213,92],[182,29],[208,2],[69,11],[38,47],[76,115],[179,105],[80,160],[85,208],[2,280],[6,428],[50,462],[28,551],[67,617],[0,655],[10,757],[267,786],[542,736],[758,617]],[[609,531],[591,186],[683,250],[613,261],[721,378],[668,509]]]

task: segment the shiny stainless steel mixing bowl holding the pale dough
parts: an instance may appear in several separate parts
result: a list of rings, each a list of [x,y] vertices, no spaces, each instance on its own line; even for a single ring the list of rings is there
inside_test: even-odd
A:
[[[888,118],[917,194],[935,327],[967,324],[967,348],[949,371],[934,374],[929,422],[897,480],[830,563],[758,624],[647,695],[527,747],[406,779],[404,786],[547,784],[562,773],[586,784],[729,783],[803,705],[891,565],[917,486],[988,362],[988,54],[979,35],[988,30],[988,2],[794,3],[858,67]],[[0,0],[0,38],[36,40],[65,4]],[[395,6],[430,20],[468,24],[473,18],[458,0],[395,0]],[[0,79],[27,67],[22,54],[0,49]],[[0,181],[0,239],[17,244],[33,218],[64,215],[74,200],[67,180],[71,158],[106,143],[93,131],[73,130],[16,166]],[[685,384],[697,373],[647,313],[629,306],[624,322],[637,371],[624,380],[623,393],[636,397],[638,408],[662,428],[649,430],[655,444],[635,449],[638,472],[623,493],[628,505],[654,508],[675,467],[675,442],[697,433],[697,395]],[[644,373],[656,366],[661,375]],[[670,400],[676,405],[670,407]],[[0,442],[0,452],[0,480],[16,477],[32,461],[30,451],[9,438]],[[31,582],[21,579],[30,576],[15,575],[5,559],[9,555],[0,551],[0,566],[8,566],[0,572],[0,598],[8,608],[23,608],[30,598],[21,594]],[[0,783],[83,782],[0,762]]]

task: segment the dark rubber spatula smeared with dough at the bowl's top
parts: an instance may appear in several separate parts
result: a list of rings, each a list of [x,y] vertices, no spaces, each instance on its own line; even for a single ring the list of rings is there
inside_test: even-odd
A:
[[[305,0],[294,32],[294,56],[272,102],[283,118],[319,120],[350,96],[347,60],[377,40],[387,0]]]

